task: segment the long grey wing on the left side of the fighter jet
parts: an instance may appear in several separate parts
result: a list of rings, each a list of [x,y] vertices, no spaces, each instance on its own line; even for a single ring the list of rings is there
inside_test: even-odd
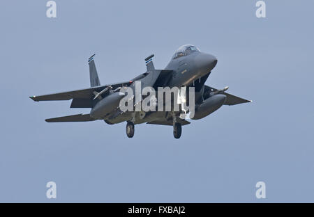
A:
[[[112,83],[105,86],[97,86],[82,90],[73,90],[68,92],[62,93],[53,93],[48,95],[39,95],[39,96],[31,96],[29,98],[33,99],[33,101],[49,101],[49,100],[69,100],[69,99],[93,99],[94,94],[93,92],[100,92],[101,90],[107,88],[107,86],[112,86],[113,89],[121,87],[121,86],[128,86],[130,81],[123,82],[123,83]]]

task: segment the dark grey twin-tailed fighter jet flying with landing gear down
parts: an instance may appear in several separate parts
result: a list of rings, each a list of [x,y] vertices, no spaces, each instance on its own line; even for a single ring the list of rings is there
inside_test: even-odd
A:
[[[134,124],[161,124],[173,126],[174,138],[180,138],[181,126],[190,124],[188,120],[181,118],[182,111],[121,111],[119,103],[125,96],[121,94],[121,88],[135,88],[136,81],[140,81],[141,88],[151,86],[155,90],[158,87],[182,87],[195,88],[195,113],[193,120],[198,120],[213,113],[220,106],[235,105],[252,102],[240,97],[225,93],[227,87],[222,90],[205,85],[205,81],[211,74],[211,70],[217,64],[217,58],[201,52],[193,45],[183,45],[177,49],[165,70],[156,70],[152,58],[154,54],[145,58],[147,72],[134,79],[121,83],[100,85],[94,56],[89,58],[89,75],[91,88],[73,90],[50,95],[31,96],[34,101],[69,100],[72,99],[70,108],[91,108],[88,114],[77,114],[59,118],[46,119],[46,122],[87,122],[104,120],[107,124],[126,122],[126,134],[129,138],[134,135]],[[174,100],[173,98],[171,98]],[[157,99],[158,100],[158,99]]]

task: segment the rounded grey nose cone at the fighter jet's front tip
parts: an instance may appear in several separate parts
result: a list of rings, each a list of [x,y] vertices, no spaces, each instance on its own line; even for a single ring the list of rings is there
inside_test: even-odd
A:
[[[202,74],[207,74],[210,72],[212,69],[214,69],[216,64],[217,58],[211,54],[200,53],[195,56],[195,65]]]

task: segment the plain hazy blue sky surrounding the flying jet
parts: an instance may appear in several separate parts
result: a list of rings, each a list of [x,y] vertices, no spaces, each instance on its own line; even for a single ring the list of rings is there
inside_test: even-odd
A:
[[[314,2],[47,1],[0,4],[0,202],[313,202]],[[30,95],[128,81],[192,44],[215,55],[207,80],[252,99],[183,127],[56,123],[89,109]],[[46,183],[57,183],[57,199]],[[267,198],[255,198],[255,184]]]

